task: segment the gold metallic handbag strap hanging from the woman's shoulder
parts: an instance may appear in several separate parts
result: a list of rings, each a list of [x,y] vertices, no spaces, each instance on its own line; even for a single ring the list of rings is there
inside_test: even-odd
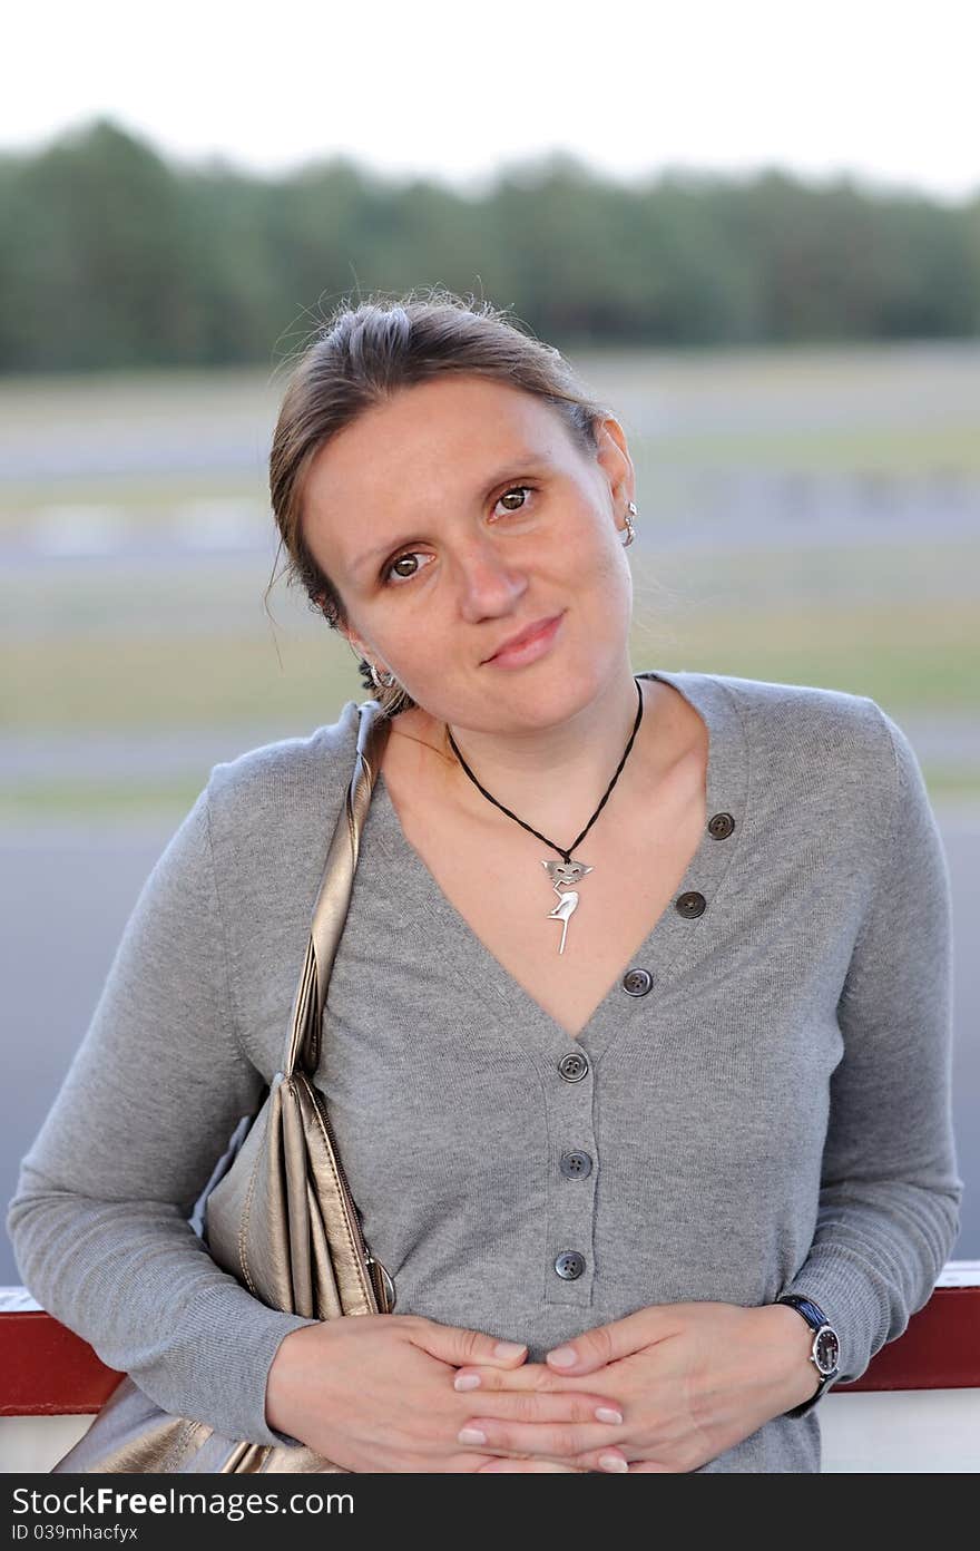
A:
[[[358,706],[357,755],[347,785],[344,805],[327,848],[327,861],[313,904],[310,941],[293,1000],[290,1031],[282,1056],[282,1075],[305,1072],[312,1076],[319,1066],[323,1011],[333,959],[347,920],[354,872],[361,845],[361,830],[371,807],[371,796],[381,768],[381,755],[391,734],[391,717],[377,700]]]

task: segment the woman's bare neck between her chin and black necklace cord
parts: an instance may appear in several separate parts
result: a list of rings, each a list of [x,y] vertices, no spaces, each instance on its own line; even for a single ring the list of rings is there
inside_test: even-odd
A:
[[[509,734],[451,727],[451,732],[481,786],[526,824],[568,845],[603,796],[636,713],[637,682],[628,664],[622,664],[586,706],[550,727]],[[626,782],[631,762],[639,763],[640,737],[642,727],[620,783]],[[493,811],[456,760],[448,774],[453,796],[467,811],[481,816]]]

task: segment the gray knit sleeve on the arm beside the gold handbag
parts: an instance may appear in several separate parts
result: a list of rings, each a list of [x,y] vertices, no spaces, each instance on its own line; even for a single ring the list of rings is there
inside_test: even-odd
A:
[[[147,878],[8,1213],[42,1307],[164,1410],[279,1442],[281,1314],[222,1272],[192,1208],[264,1078],[233,1028],[203,791]]]

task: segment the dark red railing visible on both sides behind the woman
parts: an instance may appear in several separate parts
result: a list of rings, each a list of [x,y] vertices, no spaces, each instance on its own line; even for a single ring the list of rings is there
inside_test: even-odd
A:
[[[98,1411],[122,1376],[40,1309],[0,1309],[0,1416]],[[980,1286],[937,1287],[909,1328],[878,1352],[859,1390],[980,1388]]]

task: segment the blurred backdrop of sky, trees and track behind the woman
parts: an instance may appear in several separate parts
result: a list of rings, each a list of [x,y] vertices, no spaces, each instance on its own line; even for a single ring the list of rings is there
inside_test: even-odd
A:
[[[5,28],[0,1199],[211,766],[363,698],[304,599],[264,600],[288,360],[341,299],[448,285],[626,428],[637,668],[871,695],[912,738],[977,1259],[980,22],[527,11]]]

